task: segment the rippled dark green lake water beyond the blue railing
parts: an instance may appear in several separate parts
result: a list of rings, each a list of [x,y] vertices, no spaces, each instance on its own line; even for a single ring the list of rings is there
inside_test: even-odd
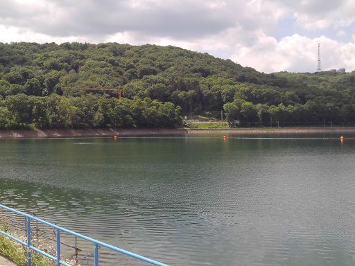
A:
[[[0,201],[170,265],[354,265],[355,141],[232,137],[1,140]]]

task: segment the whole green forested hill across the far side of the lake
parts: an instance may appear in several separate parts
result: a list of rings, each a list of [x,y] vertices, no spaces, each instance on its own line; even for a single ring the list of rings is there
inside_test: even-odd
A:
[[[354,85],[355,73],[265,74],[173,46],[0,44],[0,127],[176,127],[221,109],[241,126],[350,125]]]

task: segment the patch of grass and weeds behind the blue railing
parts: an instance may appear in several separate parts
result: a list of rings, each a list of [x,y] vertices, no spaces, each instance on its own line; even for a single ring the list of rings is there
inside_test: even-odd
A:
[[[6,226],[2,225],[1,230],[8,232]],[[12,233],[13,235],[13,233]],[[18,236],[16,236],[18,237]],[[18,242],[11,240],[7,236],[0,234],[0,254],[9,258],[19,266],[27,266],[27,252],[26,248]],[[33,266],[49,266],[55,265],[53,261],[49,260],[36,252],[32,252],[32,265]]]

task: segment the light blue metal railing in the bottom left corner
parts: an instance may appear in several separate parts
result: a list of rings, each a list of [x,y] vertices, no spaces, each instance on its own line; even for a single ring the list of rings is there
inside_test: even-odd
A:
[[[46,256],[47,258],[50,258],[51,260],[53,260],[57,263],[57,266],[60,266],[60,265],[71,266],[68,263],[65,263],[63,260],[60,260],[60,232],[68,233],[72,236],[76,236],[76,237],[81,238],[83,240],[87,240],[89,242],[92,242],[92,244],[94,244],[94,266],[98,266],[98,247],[106,247],[107,249],[111,249],[112,251],[116,251],[117,253],[125,254],[127,256],[132,257],[132,258],[136,258],[137,260],[141,260],[146,263],[153,264],[153,265],[168,266],[164,263],[159,263],[156,260],[151,260],[150,258],[146,258],[144,256],[140,256],[140,255],[132,253],[130,251],[120,249],[119,247],[114,247],[112,245],[108,245],[104,242],[95,240],[94,238],[89,238],[87,236],[83,236],[80,233],[76,233],[74,231],[65,229],[63,227],[58,227],[55,224],[51,224],[50,222],[46,222],[46,221],[44,221],[40,218],[34,217],[32,215],[28,215],[27,213],[23,213],[21,211],[11,209],[11,208],[4,206],[2,204],[0,204],[0,209],[10,211],[11,213],[16,213],[17,215],[23,216],[26,219],[27,242],[24,242],[24,241],[20,240],[19,238],[16,238],[15,236],[11,236],[10,233],[6,233],[5,231],[2,231],[2,230],[0,230],[0,233],[3,234],[4,236],[7,236],[8,238],[11,238],[12,240],[19,242],[21,245],[24,245],[24,247],[27,247],[28,266],[32,265],[32,251],[36,251],[37,253],[42,254],[43,256]],[[57,239],[56,239],[57,240],[57,256],[56,257],[52,256],[51,254],[46,253],[45,251],[37,249],[37,247],[34,247],[31,244],[31,220],[45,224],[46,226],[51,227],[56,231],[56,235],[57,235]]]

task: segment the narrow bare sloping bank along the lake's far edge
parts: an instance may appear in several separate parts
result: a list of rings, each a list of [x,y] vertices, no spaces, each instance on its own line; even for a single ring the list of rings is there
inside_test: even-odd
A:
[[[81,137],[112,137],[171,135],[171,134],[306,134],[306,133],[354,133],[355,127],[245,127],[226,129],[86,129],[86,130],[0,130],[0,139],[55,139]]]

